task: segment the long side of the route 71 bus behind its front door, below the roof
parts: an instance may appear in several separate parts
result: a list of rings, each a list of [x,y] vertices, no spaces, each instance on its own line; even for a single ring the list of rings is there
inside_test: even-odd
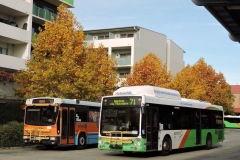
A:
[[[162,104],[149,106],[147,110],[150,115],[147,117],[150,121],[159,122],[158,150],[163,155],[172,149],[197,146],[211,149],[212,144],[224,140],[222,110],[215,107],[194,108]],[[154,137],[151,134],[150,136]]]

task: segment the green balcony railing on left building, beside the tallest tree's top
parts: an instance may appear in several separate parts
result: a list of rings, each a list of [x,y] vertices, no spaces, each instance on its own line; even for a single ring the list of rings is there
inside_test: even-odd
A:
[[[33,14],[38,16],[38,17],[41,17],[43,19],[49,20],[49,21],[51,21],[52,17],[54,19],[56,19],[56,17],[57,17],[57,15],[55,13],[52,13],[47,9],[40,8],[36,5],[33,5]]]

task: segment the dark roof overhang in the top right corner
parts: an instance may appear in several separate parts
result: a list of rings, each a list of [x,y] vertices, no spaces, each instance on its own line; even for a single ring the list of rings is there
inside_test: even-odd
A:
[[[229,37],[240,42],[240,0],[192,0],[204,6],[229,32]]]

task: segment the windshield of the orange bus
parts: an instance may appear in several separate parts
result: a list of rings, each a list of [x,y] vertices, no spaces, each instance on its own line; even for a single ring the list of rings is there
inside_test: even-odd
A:
[[[58,108],[54,106],[33,106],[26,108],[25,123],[36,126],[47,126],[56,123]]]

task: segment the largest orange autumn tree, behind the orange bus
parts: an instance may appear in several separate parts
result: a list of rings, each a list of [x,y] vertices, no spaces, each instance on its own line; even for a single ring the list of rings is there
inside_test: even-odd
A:
[[[115,62],[103,46],[84,42],[82,26],[64,5],[56,20],[39,28],[27,70],[15,74],[16,93],[24,98],[51,96],[98,101],[117,83]]]

